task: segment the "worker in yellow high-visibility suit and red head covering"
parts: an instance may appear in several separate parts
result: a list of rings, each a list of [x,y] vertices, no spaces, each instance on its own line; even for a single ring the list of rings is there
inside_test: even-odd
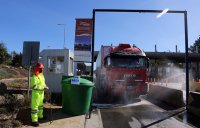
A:
[[[43,75],[44,65],[40,62],[33,68],[34,74],[31,77],[31,120],[32,125],[39,126],[38,119],[42,120],[46,117],[43,116],[43,99],[44,90],[48,89],[45,84],[45,78]]]

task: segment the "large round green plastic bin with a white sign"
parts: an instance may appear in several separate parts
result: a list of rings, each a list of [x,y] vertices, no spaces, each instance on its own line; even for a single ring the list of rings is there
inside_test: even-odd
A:
[[[94,84],[81,77],[62,80],[62,111],[69,115],[89,112]]]

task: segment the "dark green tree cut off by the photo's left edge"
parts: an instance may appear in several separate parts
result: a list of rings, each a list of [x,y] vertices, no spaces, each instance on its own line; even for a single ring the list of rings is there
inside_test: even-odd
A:
[[[11,58],[8,50],[3,42],[0,42],[0,64],[7,63]]]

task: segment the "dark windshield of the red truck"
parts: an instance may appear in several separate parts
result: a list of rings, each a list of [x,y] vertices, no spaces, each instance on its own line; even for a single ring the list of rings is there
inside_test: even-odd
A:
[[[147,60],[144,57],[111,57],[110,66],[120,68],[145,68]]]

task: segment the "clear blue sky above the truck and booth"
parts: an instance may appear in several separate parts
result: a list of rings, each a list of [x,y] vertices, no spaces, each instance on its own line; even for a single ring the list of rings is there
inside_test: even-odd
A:
[[[75,19],[92,18],[99,9],[165,9],[188,11],[189,46],[200,35],[199,0],[0,0],[0,41],[9,51],[22,52],[23,41],[40,41],[43,49],[63,48],[66,24],[66,47],[73,50]],[[120,42],[136,44],[144,51],[184,52],[183,15],[141,13],[97,13],[95,50],[101,45]]]

